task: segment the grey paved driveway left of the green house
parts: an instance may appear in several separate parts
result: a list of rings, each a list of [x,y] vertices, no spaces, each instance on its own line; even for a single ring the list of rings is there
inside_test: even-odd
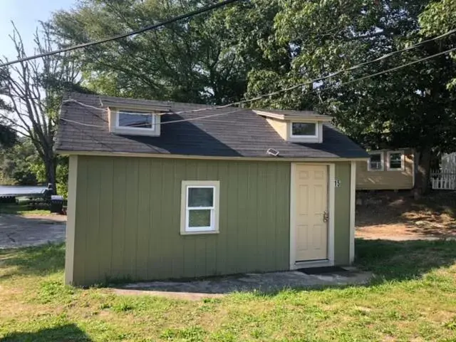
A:
[[[64,242],[66,216],[0,215],[0,249]]]

